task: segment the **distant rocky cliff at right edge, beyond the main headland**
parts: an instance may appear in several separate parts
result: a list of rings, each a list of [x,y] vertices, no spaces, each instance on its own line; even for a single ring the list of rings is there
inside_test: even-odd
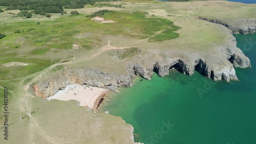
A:
[[[243,25],[242,27],[238,27],[228,25],[226,22],[222,22],[217,19],[209,19],[201,16],[197,16],[196,18],[223,25],[231,30],[234,34],[248,34],[256,32],[256,19],[241,19],[240,21],[245,23],[245,25]]]

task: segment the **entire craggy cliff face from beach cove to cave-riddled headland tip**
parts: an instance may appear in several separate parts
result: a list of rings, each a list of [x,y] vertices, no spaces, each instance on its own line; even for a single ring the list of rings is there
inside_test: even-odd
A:
[[[234,39],[231,39],[233,41]],[[199,73],[212,80],[238,80],[236,76],[236,67],[250,67],[250,60],[236,47],[236,42],[231,45],[218,47],[222,51],[226,60],[218,60],[216,58],[200,58],[198,56],[193,60],[172,60],[172,61],[155,61],[149,65],[133,63],[127,61],[127,73],[107,73],[99,69],[92,68],[67,68],[50,78],[49,80],[38,82],[32,85],[35,94],[42,98],[50,97],[60,89],[65,89],[68,84],[89,85],[101,87],[112,91],[118,91],[118,87],[131,87],[134,76],[140,76],[144,79],[151,80],[155,71],[159,76],[163,77],[169,74],[169,70],[177,69],[186,75],[193,75],[197,70]]]

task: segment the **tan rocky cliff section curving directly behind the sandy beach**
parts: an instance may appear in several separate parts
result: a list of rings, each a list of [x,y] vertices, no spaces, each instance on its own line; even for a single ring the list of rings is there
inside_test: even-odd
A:
[[[50,78],[32,85],[38,97],[47,98],[68,84],[89,85],[117,91],[117,87],[131,87],[133,85],[129,75],[104,73],[99,69],[69,68]]]

